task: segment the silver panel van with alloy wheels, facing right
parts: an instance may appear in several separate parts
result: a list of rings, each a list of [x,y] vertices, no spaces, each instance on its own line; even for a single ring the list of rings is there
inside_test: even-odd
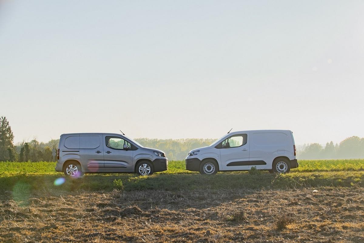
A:
[[[115,133],[62,134],[56,171],[77,177],[83,173],[138,173],[166,171],[168,159],[158,149],[145,148]]]

